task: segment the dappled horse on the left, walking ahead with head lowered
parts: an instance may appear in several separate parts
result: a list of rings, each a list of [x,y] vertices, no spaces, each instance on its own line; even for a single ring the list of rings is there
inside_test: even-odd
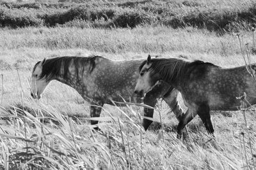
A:
[[[118,102],[142,102],[134,96],[138,68],[143,60],[113,61],[100,56],[55,57],[37,62],[31,78],[31,96],[40,99],[51,80],[58,80],[73,87],[88,101],[91,117],[100,117],[103,104]],[[179,120],[182,109],[177,103],[178,91],[168,83],[159,81],[143,98],[148,106],[154,106],[163,98]],[[123,98],[123,99],[122,99]],[[144,108],[145,117],[153,117],[154,109]],[[91,124],[98,121],[91,120]],[[143,119],[145,130],[152,123]]]

